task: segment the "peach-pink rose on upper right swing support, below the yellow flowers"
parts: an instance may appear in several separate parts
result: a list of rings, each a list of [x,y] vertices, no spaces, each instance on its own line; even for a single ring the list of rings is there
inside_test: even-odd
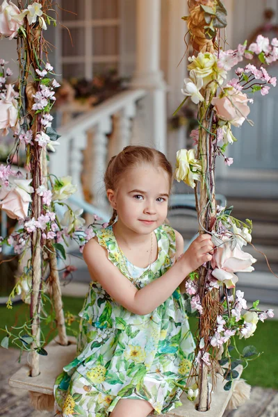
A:
[[[250,108],[247,106],[248,101],[250,99],[248,99],[246,94],[231,88],[227,90],[227,97],[225,96],[221,99],[215,97],[211,102],[220,119],[238,127],[243,124],[250,113]]]

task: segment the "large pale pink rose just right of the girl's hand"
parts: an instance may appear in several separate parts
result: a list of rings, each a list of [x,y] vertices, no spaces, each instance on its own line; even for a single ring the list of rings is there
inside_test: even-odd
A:
[[[254,268],[252,263],[256,262],[256,259],[252,255],[240,250],[238,245],[231,250],[230,242],[228,238],[222,238],[223,245],[219,246],[211,259],[211,266],[213,277],[218,281],[224,282],[227,288],[234,288],[238,277],[234,272],[252,272]]]

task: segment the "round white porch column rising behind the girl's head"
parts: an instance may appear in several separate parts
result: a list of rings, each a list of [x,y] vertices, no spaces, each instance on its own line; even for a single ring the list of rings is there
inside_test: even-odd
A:
[[[136,72],[131,86],[145,88],[140,144],[167,152],[166,85],[160,70],[161,0],[137,0]]]

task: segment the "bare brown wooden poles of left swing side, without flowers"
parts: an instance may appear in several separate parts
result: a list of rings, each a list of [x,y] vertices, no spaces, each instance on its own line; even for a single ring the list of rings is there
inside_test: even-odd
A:
[[[40,57],[40,62],[42,62],[42,33],[40,28],[35,29],[35,35],[32,38],[32,42],[30,42],[31,38],[29,39],[28,36],[31,37],[30,31],[27,31],[26,35],[26,42],[25,42],[25,49],[26,49],[26,56],[27,62],[33,63],[34,65],[34,51],[33,48],[36,50],[37,56]],[[28,65],[29,66],[29,65]],[[28,80],[28,71],[29,68],[26,68],[25,74],[22,70],[22,76],[24,77],[25,83]],[[34,68],[35,70],[35,68]],[[33,137],[36,136],[37,131],[41,130],[41,117],[42,115],[39,113],[35,115],[35,112],[31,110],[34,98],[33,94],[37,91],[35,83],[28,83],[26,85],[26,101],[27,101],[27,111],[28,115],[33,118],[33,125],[32,125],[32,132]],[[45,149],[42,149],[35,142],[33,146],[33,158],[31,158],[31,175],[33,178],[33,188],[36,190],[38,186],[44,185],[47,187],[47,152]],[[42,213],[42,197],[40,197],[37,193],[33,193],[33,217],[38,219],[38,217]],[[32,293],[31,293],[31,308],[30,308],[30,316],[31,316],[31,334],[33,336],[33,343],[31,344],[32,351],[30,357],[30,366],[31,366],[31,376],[35,377],[40,374],[39,368],[39,354],[36,351],[36,348],[40,347],[40,311],[41,311],[41,291],[42,291],[42,247],[41,247],[41,231],[40,229],[36,228],[33,232],[31,238],[31,253],[32,253]],[[63,313],[63,302],[61,297],[60,291],[60,281],[58,275],[58,268],[57,268],[57,259],[56,259],[56,250],[52,243],[49,241],[47,243],[47,247],[49,249],[49,266],[50,266],[50,278],[49,282],[52,286],[53,291],[53,299],[54,299],[54,309],[56,313],[56,321],[58,326],[58,336],[61,345],[67,345],[67,334],[65,329],[65,317]]]

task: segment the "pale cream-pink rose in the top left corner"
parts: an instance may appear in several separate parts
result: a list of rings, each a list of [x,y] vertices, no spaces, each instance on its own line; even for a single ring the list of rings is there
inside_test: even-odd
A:
[[[15,38],[18,29],[23,25],[23,18],[17,19],[20,10],[12,1],[4,0],[0,6],[0,35]]]

